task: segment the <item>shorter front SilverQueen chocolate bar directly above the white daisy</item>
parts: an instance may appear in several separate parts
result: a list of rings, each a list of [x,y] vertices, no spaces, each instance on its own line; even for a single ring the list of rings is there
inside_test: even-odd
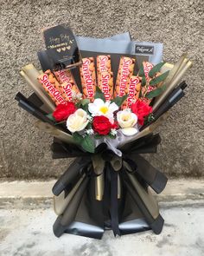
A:
[[[113,98],[113,74],[112,72],[102,72],[98,74],[99,89],[105,95],[105,101],[110,101]]]

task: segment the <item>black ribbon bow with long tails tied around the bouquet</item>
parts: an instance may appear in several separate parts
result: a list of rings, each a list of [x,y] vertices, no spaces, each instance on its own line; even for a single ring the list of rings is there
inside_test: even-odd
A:
[[[122,167],[122,169],[119,171],[114,170],[111,161],[115,154],[111,150],[107,149],[107,146],[105,144],[101,144],[99,145],[99,148],[96,148],[96,154],[100,153],[101,157],[105,161],[105,194],[103,198],[105,227],[111,227],[115,236],[121,234],[119,230],[118,214],[118,173],[121,172],[121,174],[123,173],[122,176],[124,176],[125,172],[130,172],[132,175],[135,175],[137,177],[138,181],[141,181],[141,184],[143,183],[143,187],[145,187],[146,184],[148,184],[156,191],[156,193],[161,193],[167,182],[166,176],[159,172],[158,170],[156,170],[155,167],[152,167],[148,161],[146,161],[145,159],[143,159],[142,156],[139,155],[141,153],[145,154],[156,152],[157,145],[160,143],[160,141],[161,138],[159,135],[148,135],[137,140],[137,143],[131,143],[131,150],[128,146],[125,146],[125,148],[121,150],[123,153],[122,158],[123,161],[127,162],[128,165],[131,167],[130,170],[124,167]],[[80,170],[80,166],[81,168],[83,167],[82,169],[87,170],[87,178],[90,178],[92,176],[92,174],[90,174],[90,170],[92,170],[92,167],[88,167],[91,164],[92,154],[83,152],[80,148],[73,145],[68,145],[59,140],[54,140],[52,151],[54,158],[77,157],[76,164],[73,164],[71,169],[68,168],[67,170],[67,174],[70,174],[63,174],[61,178],[56,182],[56,184],[60,184],[59,186],[61,186],[61,189],[59,189],[59,187],[58,189],[56,189],[56,191],[58,191],[58,194],[59,191],[65,190],[65,188],[68,187],[70,183],[73,182],[71,181],[72,179],[70,179],[70,177],[72,177],[71,173],[73,174],[75,179],[78,172],[80,174],[83,174],[83,171]],[[127,175],[125,175],[124,177],[126,176]],[[124,181],[124,183],[126,183],[127,185],[128,181]],[[55,188],[56,184],[54,185]],[[134,189],[132,188],[132,186],[131,188],[129,186],[128,189],[131,189],[131,194],[134,193]],[[142,200],[139,201],[139,207],[143,208],[143,215],[145,219],[148,220],[148,223],[150,223],[150,213],[148,213],[147,209],[145,208],[145,205],[142,204]],[[110,223],[108,219],[110,220]],[[159,225],[159,230],[161,230],[163,222],[160,221]],[[150,224],[150,226],[155,233],[158,233],[154,225]]]

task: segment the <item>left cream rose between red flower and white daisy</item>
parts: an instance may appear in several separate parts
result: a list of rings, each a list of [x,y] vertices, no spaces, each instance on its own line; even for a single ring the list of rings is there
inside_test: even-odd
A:
[[[79,108],[67,118],[67,129],[72,133],[80,132],[86,128],[88,122],[86,111]]]

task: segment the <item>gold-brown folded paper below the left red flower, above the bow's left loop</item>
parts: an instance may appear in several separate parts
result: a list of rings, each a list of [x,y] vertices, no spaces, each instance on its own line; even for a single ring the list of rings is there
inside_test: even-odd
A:
[[[73,136],[68,135],[67,133],[61,131],[58,128],[55,128],[54,126],[48,124],[47,122],[43,121],[36,121],[35,122],[35,127],[39,128],[40,130],[48,133],[49,135],[53,135],[54,137],[58,138],[61,141],[67,142],[67,143],[72,143],[76,144],[75,141],[73,141]]]

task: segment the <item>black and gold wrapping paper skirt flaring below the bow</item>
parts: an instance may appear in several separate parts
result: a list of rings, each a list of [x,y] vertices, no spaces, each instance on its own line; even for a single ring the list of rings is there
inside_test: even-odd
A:
[[[58,148],[59,157],[59,142],[54,142],[53,151],[54,148]],[[92,161],[83,156],[73,161],[54,185],[54,194],[60,194],[62,190],[65,192],[61,202],[58,202],[58,207],[66,204],[54,222],[55,236],[72,233],[101,239],[105,230],[110,229],[115,236],[147,230],[152,230],[156,234],[161,233],[164,220],[149,187],[160,193],[167,183],[165,175],[139,154],[134,157],[130,154],[129,158],[125,156],[118,171],[114,169],[112,159],[105,159],[104,155],[101,155],[101,158],[105,161],[102,174],[95,174]],[[128,167],[125,165],[127,162]],[[81,169],[82,173],[79,172]],[[80,173],[78,177],[77,173]],[[100,179],[101,175],[103,182],[100,184],[97,183],[97,179]],[[79,179],[80,185],[77,183]],[[98,187],[100,185],[101,187]],[[101,188],[103,196],[97,200],[97,192]],[[70,200],[67,200],[69,196]],[[55,196],[54,200],[59,200],[58,196]]]

